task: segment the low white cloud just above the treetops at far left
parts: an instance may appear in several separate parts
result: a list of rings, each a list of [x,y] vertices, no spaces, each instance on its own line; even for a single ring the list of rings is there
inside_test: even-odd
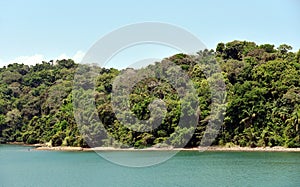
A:
[[[66,55],[65,53],[51,59],[46,59],[46,57],[42,54],[35,54],[32,56],[19,56],[13,60],[4,61],[0,59],[0,67],[7,66],[12,63],[23,63],[26,65],[35,65],[41,63],[42,61],[48,62],[49,60],[62,60],[62,59],[73,59],[76,63],[81,62],[85,53],[83,51],[77,51],[73,56]]]

